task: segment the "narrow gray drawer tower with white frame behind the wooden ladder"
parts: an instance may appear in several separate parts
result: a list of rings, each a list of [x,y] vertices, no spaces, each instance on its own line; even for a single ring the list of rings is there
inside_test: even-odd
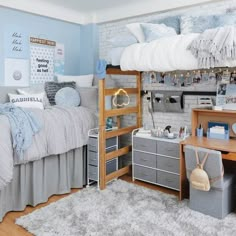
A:
[[[88,155],[87,155],[87,183],[97,183],[99,187],[99,134],[98,128],[89,131]],[[106,140],[106,153],[118,149],[118,137]],[[118,158],[107,161],[106,174],[110,174],[118,169]]]

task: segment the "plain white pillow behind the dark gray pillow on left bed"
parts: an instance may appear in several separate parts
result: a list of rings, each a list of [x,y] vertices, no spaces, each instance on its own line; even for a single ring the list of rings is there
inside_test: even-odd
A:
[[[58,82],[75,81],[77,87],[92,87],[93,74],[90,75],[57,75]]]

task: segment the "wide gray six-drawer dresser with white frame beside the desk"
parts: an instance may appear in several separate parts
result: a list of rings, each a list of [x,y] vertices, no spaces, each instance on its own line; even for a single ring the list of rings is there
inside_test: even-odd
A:
[[[133,135],[132,143],[133,180],[179,191],[179,141]]]

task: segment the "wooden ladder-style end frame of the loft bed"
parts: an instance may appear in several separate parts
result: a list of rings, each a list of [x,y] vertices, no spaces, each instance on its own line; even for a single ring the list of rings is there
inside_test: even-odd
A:
[[[106,139],[131,133],[134,129],[142,125],[141,108],[141,72],[121,71],[119,68],[107,68],[107,75],[133,75],[136,78],[136,88],[123,88],[128,94],[136,94],[136,106],[116,108],[112,110],[105,109],[105,97],[111,96],[117,92],[117,88],[105,88],[105,78],[99,81],[99,171],[100,171],[100,189],[106,188],[107,182],[119,178],[130,171],[130,165],[118,169],[111,174],[106,175],[106,161],[125,155],[132,150],[132,145],[120,148],[118,150],[106,153]],[[120,116],[136,114],[136,125],[121,128]],[[117,129],[106,131],[106,119],[108,117],[117,117]]]

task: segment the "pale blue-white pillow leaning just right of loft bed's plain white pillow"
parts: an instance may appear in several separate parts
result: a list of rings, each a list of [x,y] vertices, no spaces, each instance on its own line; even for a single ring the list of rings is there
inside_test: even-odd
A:
[[[176,35],[175,29],[165,24],[143,23],[141,27],[145,36],[145,42]]]

